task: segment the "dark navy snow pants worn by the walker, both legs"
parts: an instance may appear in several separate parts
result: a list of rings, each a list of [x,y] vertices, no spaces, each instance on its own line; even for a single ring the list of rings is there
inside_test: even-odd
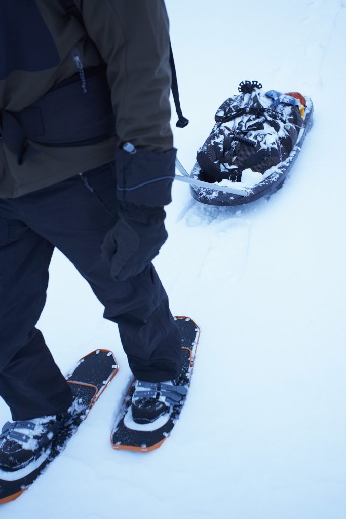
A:
[[[13,420],[65,411],[68,385],[36,329],[57,247],[89,282],[119,326],[136,378],[162,381],[181,370],[181,342],[154,266],[126,281],[110,277],[100,247],[116,222],[111,162],[15,199],[0,199],[0,396]]]

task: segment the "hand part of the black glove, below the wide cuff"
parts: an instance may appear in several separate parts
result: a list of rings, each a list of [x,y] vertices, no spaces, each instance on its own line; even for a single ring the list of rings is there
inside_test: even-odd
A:
[[[125,281],[140,274],[158,255],[168,234],[161,207],[120,202],[118,214],[119,220],[104,238],[101,257],[111,263],[113,279]]]

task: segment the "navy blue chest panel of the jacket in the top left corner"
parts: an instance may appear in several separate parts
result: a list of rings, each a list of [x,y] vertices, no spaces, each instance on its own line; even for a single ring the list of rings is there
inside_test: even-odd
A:
[[[14,71],[38,72],[60,63],[34,0],[0,2],[0,80]]]

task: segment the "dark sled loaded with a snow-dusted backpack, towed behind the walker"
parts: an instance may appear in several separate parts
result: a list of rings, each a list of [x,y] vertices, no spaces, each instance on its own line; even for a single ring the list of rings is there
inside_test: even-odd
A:
[[[262,93],[258,81],[241,82],[238,95],[217,110],[215,125],[189,175],[192,197],[212,206],[237,206],[278,190],[312,126],[313,105],[298,92]]]

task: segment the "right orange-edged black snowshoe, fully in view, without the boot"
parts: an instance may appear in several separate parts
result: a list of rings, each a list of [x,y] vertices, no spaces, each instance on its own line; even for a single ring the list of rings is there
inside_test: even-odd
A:
[[[189,317],[176,317],[175,320],[181,332],[182,348],[184,351],[184,363],[181,379],[182,384],[188,388],[190,385],[200,329]],[[168,438],[176,420],[179,418],[186,397],[184,397],[183,401],[178,405],[171,406],[170,413],[162,415],[157,418],[155,422],[139,425],[132,419],[131,399],[133,393],[134,381],[130,385],[130,389],[115,420],[111,442],[115,449],[148,452],[160,447],[165,439]]]

